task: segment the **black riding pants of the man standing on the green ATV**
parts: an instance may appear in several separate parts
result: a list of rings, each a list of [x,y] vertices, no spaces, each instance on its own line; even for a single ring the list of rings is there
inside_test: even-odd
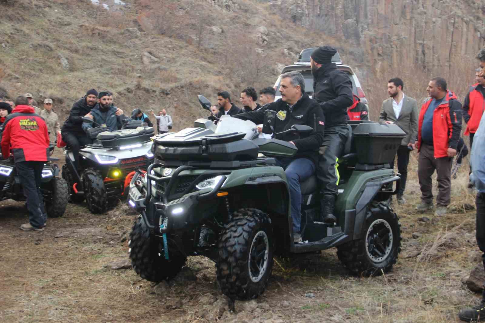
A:
[[[325,126],[317,167],[317,178],[320,182],[322,196],[332,195],[337,197],[337,185],[339,183],[337,161],[343,153],[348,135],[349,129],[347,125]]]

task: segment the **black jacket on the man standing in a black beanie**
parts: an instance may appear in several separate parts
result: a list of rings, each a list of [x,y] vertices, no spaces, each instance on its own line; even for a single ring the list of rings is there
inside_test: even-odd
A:
[[[313,98],[320,103],[325,125],[347,123],[347,107],[353,103],[352,81],[335,64],[325,64],[313,77]]]

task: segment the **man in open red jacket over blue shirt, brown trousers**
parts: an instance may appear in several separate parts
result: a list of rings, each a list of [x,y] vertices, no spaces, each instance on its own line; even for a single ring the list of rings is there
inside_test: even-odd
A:
[[[461,103],[448,91],[443,78],[433,78],[428,84],[429,98],[422,105],[418,121],[418,179],[421,203],[416,210],[433,208],[431,176],[438,181],[436,215],[446,214],[451,199],[451,167],[461,132]]]

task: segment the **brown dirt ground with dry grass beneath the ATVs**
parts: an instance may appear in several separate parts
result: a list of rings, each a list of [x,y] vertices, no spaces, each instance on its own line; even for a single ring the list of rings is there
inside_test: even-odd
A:
[[[392,272],[351,276],[336,249],[276,257],[268,289],[237,301],[234,313],[208,258],[189,258],[168,284],[136,275],[128,258],[136,214],[123,203],[102,215],[69,204],[44,232],[23,232],[24,203],[0,202],[0,322],[458,322],[458,310],[479,300],[464,285],[480,263],[475,213],[463,210],[472,195],[454,191],[453,212],[437,217],[414,211],[416,178],[406,192],[405,206],[394,203],[404,238]]]

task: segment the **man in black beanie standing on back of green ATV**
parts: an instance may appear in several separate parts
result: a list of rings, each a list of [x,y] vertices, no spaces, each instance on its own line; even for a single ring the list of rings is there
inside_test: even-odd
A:
[[[335,48],[322,46],[315,49],[310,58],[313,99],[320,104],[325,116],[325,133],[317,167],[321,187],[321,211],[325,223],[337,222],[334,206],[339,171],[336,166],[349,135],[347,107],[353,103],[352,81],[331,63],[335,53]]]

